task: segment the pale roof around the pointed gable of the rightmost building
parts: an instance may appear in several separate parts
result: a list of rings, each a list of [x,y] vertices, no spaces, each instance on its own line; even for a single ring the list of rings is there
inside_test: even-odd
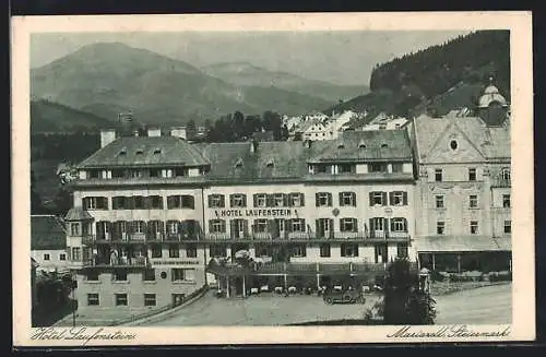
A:
[[[489,159],[510,157],[510,129],[490,128],[479,117],[440,117],[422,115],[414,119],[419,160],[434,150],[439,138],[455,124],[471,143]]]

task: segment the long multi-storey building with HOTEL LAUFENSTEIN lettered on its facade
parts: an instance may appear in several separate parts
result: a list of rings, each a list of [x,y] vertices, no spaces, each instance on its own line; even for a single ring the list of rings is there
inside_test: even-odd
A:
[[[67,216],[79,309],[176,305],[216,278],[236,294],[370,281],[396,257],[416,259],[405,131],[202,145],[118,138],[79,169]],[[240,251],[263,265],[211,265]]]

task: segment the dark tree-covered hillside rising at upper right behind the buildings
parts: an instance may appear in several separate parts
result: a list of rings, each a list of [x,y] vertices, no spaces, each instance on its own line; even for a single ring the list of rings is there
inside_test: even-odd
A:
[[[324,112],[366,108],[373,112],[412,116],[416,108],[422,111],[436,106],[443,110],[447,104],[441,102],[442,98],[449,98],[450,107],[468,106],[477,99],[476,85],[487,85],[489,78],[510,100],[508,31],[475,32],[379,63],[370,76],[370,94],[328,108]],[[446,93],[450,95],[446,96]],[[471,93],[471,98],[466,93]]]

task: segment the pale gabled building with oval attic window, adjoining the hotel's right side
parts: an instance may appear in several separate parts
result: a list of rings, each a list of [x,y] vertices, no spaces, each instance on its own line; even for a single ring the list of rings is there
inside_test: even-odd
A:
[[[422,266],[511,269],[510,128],[498,124],[479,117],[414,119]]]

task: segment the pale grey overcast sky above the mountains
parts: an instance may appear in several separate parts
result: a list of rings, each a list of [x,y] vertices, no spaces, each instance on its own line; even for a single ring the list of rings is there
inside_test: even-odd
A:
[[[80,47],[121,41],[195,67],[249,62],[337,84],[368,84],[378,62],[442,44],[468,32],[248,32],[35,34],[31,66],[40,67]]]

